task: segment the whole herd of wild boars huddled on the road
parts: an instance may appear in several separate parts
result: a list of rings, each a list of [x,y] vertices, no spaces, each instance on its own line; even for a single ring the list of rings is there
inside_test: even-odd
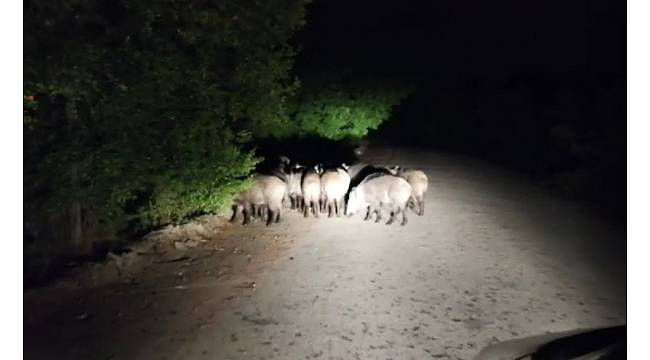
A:
[[[305,167],[282,156],[270,174],[255,175],[253,187],[235,198],[231,221],[241,213],[244,224],[261,218],[270,225],[280,221],[283,209],[291,208],[305,217],[321,213],[352,216],[365,211],[365,220],[376,216],[379,222],[386,210],[390,215],[387,225],[399,215],[400,224],[406,225],[407,209],[424,214],[428,183],[426,174],[417,169],[362,163]]]

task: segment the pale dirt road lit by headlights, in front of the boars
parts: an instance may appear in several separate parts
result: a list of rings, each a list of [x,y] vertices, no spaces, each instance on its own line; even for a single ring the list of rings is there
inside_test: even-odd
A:
[[[478,161],[386,148],[365,160],[424,169],[425,215],[402,227],[288,213],[116,284],[26,291],[25,358],[471,359],[625,322],[624,228]]]

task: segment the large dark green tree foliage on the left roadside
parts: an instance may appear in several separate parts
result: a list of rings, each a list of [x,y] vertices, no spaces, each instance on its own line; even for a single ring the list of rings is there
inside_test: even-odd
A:
[[[81,203],[113,231],[222,208],[258,161],[243,145],[285,120],[304,5],[26,1],[28,216]]]

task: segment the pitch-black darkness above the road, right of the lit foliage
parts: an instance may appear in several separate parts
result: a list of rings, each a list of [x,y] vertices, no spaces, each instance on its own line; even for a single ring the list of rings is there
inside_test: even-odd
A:
[[[316,1],[296,71],[411,87],[374,142],[468,153],[625,213],[625,2]]]

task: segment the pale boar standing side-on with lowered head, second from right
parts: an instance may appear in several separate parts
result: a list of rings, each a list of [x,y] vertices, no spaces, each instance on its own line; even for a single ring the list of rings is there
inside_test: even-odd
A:
[[[375,222],[381,220],[382,206],[390,210],[390,219],[386,225],[395,220],[398,213],[402,213],[402,225],[406,225],[406,204],[411,198],[411,185],[398,176],[371,174],[359,186],[353,188],[348,196],[346,215],[352,216],[360,209],[367,209],[364,220],[369,220],[373,213],[377,214]]]

